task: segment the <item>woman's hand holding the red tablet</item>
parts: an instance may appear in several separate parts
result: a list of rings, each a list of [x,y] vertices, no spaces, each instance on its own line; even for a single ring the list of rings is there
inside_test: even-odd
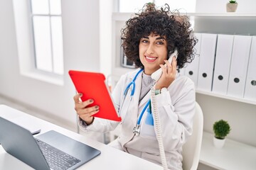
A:
[[[91,106],[88,107],[91,103],[93,103],[92,99],[88,99],[87,101],[81,101],[80,97],[82,94],[76,94],[74,96],[75,101],[75,111],[79,115],[79,117],[85,121],[87,125],[90,125],[93,121],[92,115],[99,112],[99,106]]]

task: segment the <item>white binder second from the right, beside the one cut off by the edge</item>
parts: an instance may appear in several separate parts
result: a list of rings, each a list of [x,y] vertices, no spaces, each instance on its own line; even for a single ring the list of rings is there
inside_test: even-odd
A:
[[[235,35],[228,80],[228,95],[242,98],[250,55],[251,36]]]

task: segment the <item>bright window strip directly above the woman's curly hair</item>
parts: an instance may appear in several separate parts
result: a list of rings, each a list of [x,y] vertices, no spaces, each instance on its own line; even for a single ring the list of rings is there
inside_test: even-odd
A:
[[[138,12],[138,10],[148,2],[154,2],[156,6],[169,4],[171,10],[179,9],[179,11],[183,13],[191,13],[196,11],[196,0],[119,0],[119,12]]]

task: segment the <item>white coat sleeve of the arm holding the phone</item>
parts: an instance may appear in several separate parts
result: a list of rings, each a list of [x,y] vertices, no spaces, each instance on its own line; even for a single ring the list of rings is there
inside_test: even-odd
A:
[[[169,86],[169,91],[156,95],[156,102],[164,149],[171,152],[180,148],[192,134],[196,104],[193,81],[186,79]]]

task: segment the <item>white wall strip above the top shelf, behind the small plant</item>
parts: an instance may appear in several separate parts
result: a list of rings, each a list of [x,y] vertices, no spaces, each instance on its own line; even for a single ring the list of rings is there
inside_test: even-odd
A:
[[[226,4],[229,0],[196,0],[196,12],[202,13],[224,13],[226,12]],[[237,0],[238,8],[236,12],[256,12],[255,0]]]

